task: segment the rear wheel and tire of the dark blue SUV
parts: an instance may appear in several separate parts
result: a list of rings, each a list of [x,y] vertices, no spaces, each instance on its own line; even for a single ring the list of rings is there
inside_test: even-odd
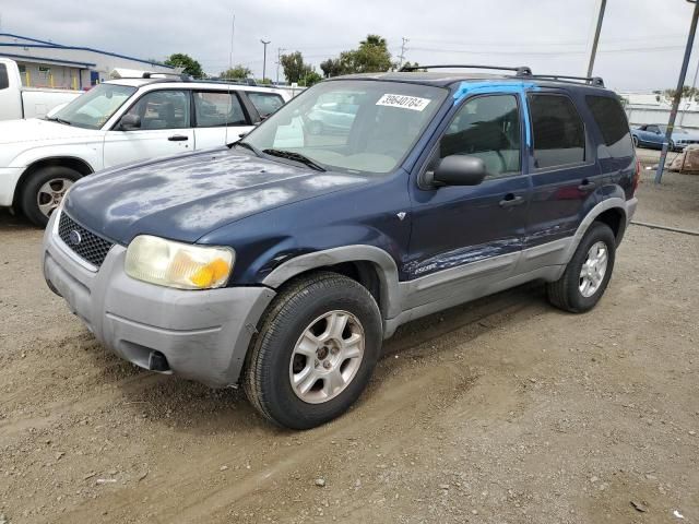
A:
[[[600,272],[594,269],[595,266],[590,267],[594,278],[599,279],[596,287],[592,287],[593,277],[583,277],[581,273],[593,248],[602,245],[604,245],[606,249],[606,265],[601,278]],[[600,253],[599,250],[597,253]],[[592,223],[588,233],[582,237],[572,259],[568,262],[562,276],[546,286],[550,303],[572,313],[582,313],[594,308],[597,301],[600,301],[600,298],[602,298],[602,295],[604,295],[604,290],[609,283],[615,258],[616,239],[614,233],[606,224],[602,224],[601,222]],[[597,263],[596,267],[599,266],[600,264]],[[585,281],[590,286],[583,291]]]

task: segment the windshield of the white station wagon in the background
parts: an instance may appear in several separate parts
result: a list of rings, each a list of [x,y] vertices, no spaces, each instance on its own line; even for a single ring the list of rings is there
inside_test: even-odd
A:
[[[86,129],[102,129],[109,118],[135,92],[135,87],[99,84],[80,95],[50,119]]]

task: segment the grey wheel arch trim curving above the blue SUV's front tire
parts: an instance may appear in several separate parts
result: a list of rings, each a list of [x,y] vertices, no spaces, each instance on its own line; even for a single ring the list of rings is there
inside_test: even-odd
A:
[[[377,300],[383,319],[400,313],[398,266],[388,252],[374,246],[343,246],[296,257],[272,271],[262,284],[277,289],[296,276],[321,270],[340,273],[365,286]]]

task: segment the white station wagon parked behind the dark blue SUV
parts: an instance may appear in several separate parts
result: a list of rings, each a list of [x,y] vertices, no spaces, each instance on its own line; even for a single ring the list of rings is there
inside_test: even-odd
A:
[[[143,76],[99,84],[45,119],[0,122],[0,206],[44,226],[85,175],[224,146],[291,98],[270,87]]]

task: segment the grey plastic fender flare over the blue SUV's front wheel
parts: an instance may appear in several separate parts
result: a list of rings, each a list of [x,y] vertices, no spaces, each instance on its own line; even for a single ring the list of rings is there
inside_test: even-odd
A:
[[[276,267],[262,281],[262,284],[277,288],[300,273],[343,262],[371,262],[378,270],[384,314],[390,319],[401,312],[398,266],[388,252],[375,246],[343,246],[301,254]]]

